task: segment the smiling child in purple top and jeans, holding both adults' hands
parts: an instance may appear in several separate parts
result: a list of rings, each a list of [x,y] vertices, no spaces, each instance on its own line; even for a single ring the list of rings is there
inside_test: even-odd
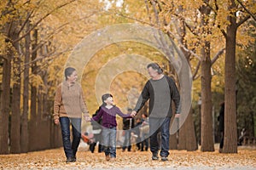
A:
[[[131,114],[125,115],[117,106],[113,105],[111,94],[104,94],[102,95],[101,110],[91,118],[91,121],[98,121],[102,118],[102,145],[107,161],[114,161],[116,158],[116,114],[131,118]]]

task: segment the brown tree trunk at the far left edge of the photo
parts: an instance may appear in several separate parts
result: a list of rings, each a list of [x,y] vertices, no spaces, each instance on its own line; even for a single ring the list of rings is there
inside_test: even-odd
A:
[[[11,57],[13,52],[9,48],[6,58],[3,60],[3,82],[1,94],[1,112],[0,112],[0,154],[9,153],[9,105],[10,105],[10,75],[11,75]]]

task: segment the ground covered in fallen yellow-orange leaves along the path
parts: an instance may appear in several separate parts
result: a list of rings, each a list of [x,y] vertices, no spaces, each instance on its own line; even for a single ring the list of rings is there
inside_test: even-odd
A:
[[[256,148],[240,147],[238,154],[170,150],[169,161],[152,161],[149,151],[122,152],[116,161],[105,161],[103,153],[80,148],[77,161],[66,163],[62,148],[0,155],[0,169],[256,169]]]

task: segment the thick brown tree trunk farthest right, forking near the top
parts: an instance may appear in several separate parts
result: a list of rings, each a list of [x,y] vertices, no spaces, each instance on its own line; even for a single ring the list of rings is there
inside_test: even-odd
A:
[[[229,10],[236,8],[231,0]],[[237,153],[236,133],[236,13],[232,12],[227,27],[225,54],[224,153]]]

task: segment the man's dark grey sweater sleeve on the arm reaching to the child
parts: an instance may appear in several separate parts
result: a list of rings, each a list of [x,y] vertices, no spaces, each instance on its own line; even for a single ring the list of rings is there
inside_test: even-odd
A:
[[[146,83],[146,85],[143,88],[143,92],[140,95],[139,99],[137,100],[137,104],[133,111],[140,111],[143,108],[143,105],[148,101],[149,99],[149,81]]]

